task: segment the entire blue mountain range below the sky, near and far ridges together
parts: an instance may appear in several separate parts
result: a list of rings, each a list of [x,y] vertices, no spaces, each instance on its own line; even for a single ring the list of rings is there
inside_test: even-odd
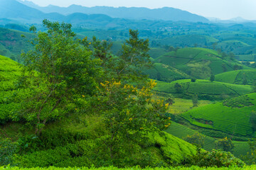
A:
[[[92,14],[107,15],[106,18],[125,18],[130,20],[162,20],[162,21],[188,21],[188,22],[208,22],[207,18],[198,16],[188,11],[182,11],[177,8],[127,8],[127,7],[109,7],[95,6],[85,7],[72,5],[66,8],[59,6],[41,7],[33,4],[31,1],[21,0],[0,0],[0,18],[18,19],[23,22],[38,22],[43,18],[64,21],[65,16],[73,13],[82,13],[86,15],[76,15],[86,17]],[[79,20],[79,18],[78,18]]]

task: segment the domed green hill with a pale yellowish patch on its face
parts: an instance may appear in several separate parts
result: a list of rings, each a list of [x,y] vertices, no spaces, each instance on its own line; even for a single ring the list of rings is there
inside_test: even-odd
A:
[[[250,67],[243,66],[235,60],[223,59],[215,50],[198,47],[182,48],[177,51],[168,52],[156,58],[154,62],[175,67],[198,79],[206,79],[211,74],[220,74],[225,70],[233,71],[235,65],[244,69],[250,69]],[[224,67],[225,70],[223,69]]]

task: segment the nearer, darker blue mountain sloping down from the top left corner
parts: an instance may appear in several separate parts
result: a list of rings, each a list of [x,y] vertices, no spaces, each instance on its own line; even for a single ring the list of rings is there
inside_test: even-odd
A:
[[[28,4],[26,6],[24,3]],[[50,21],[64,21],[68,23],[85,23],[91,21],[90,25],[96,26],[102,21],[110,22],[113,20],[110,16],[103,14],[87,15],[85,13],[72,13],[68,16],[63,16],[60,13],[43,13],[36,8],[30,6],[36,6],[35,4],[28,3],[28,1],[16,1],[16,0],[0,0],[0,25],[1,23],[7,24],[11,21],[20,21],[21,23],[41,23],[44,18]],[[8,22],[7,22],[8,21]],[[14,23],[14,22],[13,22]]]

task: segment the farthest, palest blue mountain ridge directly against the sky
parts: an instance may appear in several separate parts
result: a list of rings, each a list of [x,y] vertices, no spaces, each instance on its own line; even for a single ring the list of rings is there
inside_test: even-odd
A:
[[[95,6],[95,7],[85,7],[72,5],[65,7],[59,6],[36,6],[35,4],[31,4],[28,1],[21,1],[21,3],[31,6],[32,8],[36,8],[44,13],[61,13],[63,15],[68,15],[71,13],[86,13],[86,14],[105,14],[112,18],[127,18],[127,19],[148,19],[148,20],[164,20],[164,21],[188,21],[188,22],[208,22],[207,18],[203,16],[198,16],[193,13],[189,13],[188,11],[182,11],[177,8],[127,8],[127,7],[119,7],[114,8],[110,6]]]

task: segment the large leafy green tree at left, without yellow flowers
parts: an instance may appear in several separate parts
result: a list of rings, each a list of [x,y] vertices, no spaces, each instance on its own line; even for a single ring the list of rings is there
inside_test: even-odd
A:
[[[49,120],[84,106],[100,74],[100,61],[92,60],[92,52],[75,40],[70,24],[44,20],[43,26],[46,32],[36,33],[31,27],[36,34],[34,50],[22,54],[24,95],[18,114],[36,127],[37,134]]]

